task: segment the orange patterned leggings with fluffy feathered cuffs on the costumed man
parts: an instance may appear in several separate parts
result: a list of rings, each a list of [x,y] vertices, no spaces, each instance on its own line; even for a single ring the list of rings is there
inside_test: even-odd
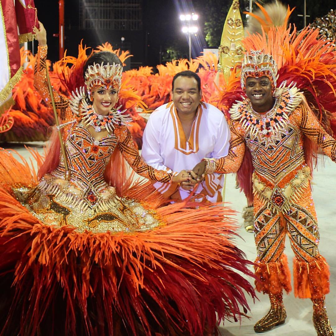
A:
[[[254,237],[257,247],[256,288],[279,294],[292,289],[287,257],[286,234],[294,258],[294,294],[300,298],[322,298],[329,293],[329,266],[319,254],[319,229],[310,188],[303,190],[288,212],[272,213],[254,199]]]

